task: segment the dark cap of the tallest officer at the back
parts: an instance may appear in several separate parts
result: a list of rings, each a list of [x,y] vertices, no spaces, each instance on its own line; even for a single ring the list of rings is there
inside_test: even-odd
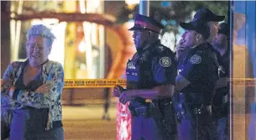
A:
[[[194,18],[201,18],[206,22],[220,22],[225,19],[225,16],[220,16],[215,13],[212,13],[212,11],[209,8],[201,8],[196,12]]]

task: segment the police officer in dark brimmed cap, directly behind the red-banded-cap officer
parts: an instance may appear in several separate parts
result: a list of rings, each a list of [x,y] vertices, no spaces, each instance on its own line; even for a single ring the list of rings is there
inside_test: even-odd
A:
[[[201,19],[180,23],[186,29],[180,44],[175,85],[175,111],[179,140],[212,140],[216,129],[212,119],[212,96],[218,79],[217,56],[207,47],[210,29]],[[179,52],[177,52],[179,53]]]

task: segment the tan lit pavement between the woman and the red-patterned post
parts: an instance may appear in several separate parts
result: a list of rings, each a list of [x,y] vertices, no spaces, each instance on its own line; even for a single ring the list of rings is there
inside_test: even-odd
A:
[[[65,140],[115,140],[116,112],[111,106],[107,121],[102,120],[102,106],[63,106]]]

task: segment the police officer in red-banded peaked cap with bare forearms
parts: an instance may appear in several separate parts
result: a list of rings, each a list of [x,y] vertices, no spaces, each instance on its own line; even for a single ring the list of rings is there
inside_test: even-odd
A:
[[[132,140],[172,140],[175,137],[175,54],[160,44],[163,25],[154,18],[135,14],[133,40],[137,53],[128,60],[127,89],[114,87],[113,96],[123,104],[130,101],[133,116]],[[151,100],[151,102],[146,99]]]

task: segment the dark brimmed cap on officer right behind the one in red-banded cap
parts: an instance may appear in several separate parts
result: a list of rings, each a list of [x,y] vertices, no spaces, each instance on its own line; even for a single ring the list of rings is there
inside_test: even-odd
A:
[[[201,19],[193,19],[190,23],[180,23],[182,29],[194,30],[198,34],[202,34],[205,39],[210,37],[210,29]]]

